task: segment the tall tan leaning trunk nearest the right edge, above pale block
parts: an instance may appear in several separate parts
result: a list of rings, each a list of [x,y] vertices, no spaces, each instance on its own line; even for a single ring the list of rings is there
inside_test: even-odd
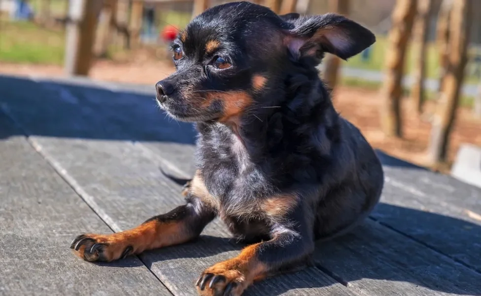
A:
[[[471,30],[471,1],[456,0],[452,5],[449,22],[449,50],[445,85],[433,118],[431,139],[428,148],[429,160],[432,164],[445,162],[449,136],[459,104],[464,69],[468,61],[467,49]]]

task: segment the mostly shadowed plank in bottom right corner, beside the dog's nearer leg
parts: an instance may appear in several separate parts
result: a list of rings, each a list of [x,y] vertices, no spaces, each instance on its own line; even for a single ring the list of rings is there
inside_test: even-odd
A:
[[[373,221],[317,247],[314,259],[321,266],[368,295],[479,295],[481,291],[480,273]]]

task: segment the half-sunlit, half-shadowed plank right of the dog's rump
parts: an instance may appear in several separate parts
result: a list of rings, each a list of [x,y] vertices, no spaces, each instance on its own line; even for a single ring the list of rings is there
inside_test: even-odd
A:
[[[377,221],[448,257],[481,270],[481,225],[462,209],[418,196],[386,182],[382,203],[371,215]]]

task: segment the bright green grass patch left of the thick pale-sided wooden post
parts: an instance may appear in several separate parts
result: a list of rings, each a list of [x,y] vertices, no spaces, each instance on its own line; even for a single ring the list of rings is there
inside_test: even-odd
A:
[[[30,22],[0,21],[0,61],[62,65],[65,34]]]

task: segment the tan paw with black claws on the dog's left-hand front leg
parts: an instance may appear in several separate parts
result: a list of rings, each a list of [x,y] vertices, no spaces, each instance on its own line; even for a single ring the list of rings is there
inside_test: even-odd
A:
[[[133,246],[128,245],[128,240],[120,233],[82,234],[72,241],[70,249],[84,260],[107,262],[125,258],[134,251]]]

